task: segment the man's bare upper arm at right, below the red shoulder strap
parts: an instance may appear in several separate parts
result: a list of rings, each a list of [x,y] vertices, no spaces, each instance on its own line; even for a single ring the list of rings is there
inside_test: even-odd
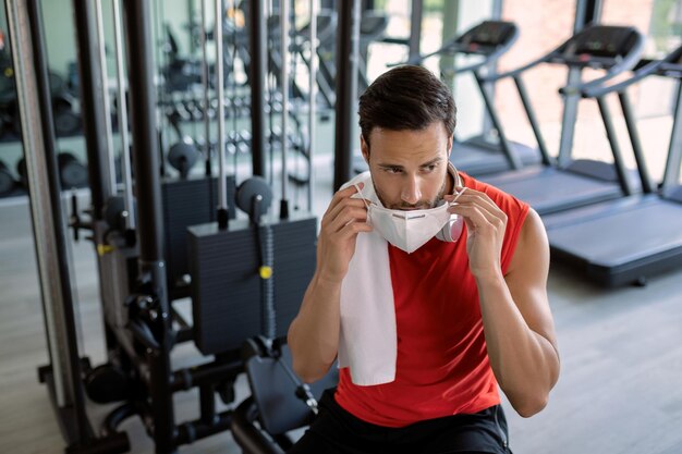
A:
[[[528,328],[556,347],[555,322],[547,296],[548,272],[547,233],[540,217],[531,209],[504,280]]]

